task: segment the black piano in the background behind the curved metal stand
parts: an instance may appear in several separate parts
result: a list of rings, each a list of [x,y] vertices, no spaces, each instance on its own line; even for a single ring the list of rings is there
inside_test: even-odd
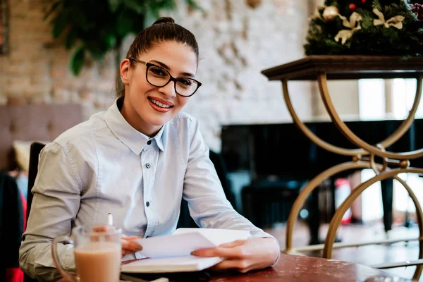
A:
[[[400,120],[346,121],[353,132],[370,144],[377,144],[391,135]],[[355,149],[330,121],[305,123],[322,140],[339,147]],[[416,119],[410,130],[391,147],[391,152],[407,152],[423,147],[423,119]],[[224,125],[221,131],[221,154],[228,171],[250,171],[253,181],[269,176],[285,180],[307,181],[321,171],[352,157],[328,152],[311,142],[293,123]],[[376,161],[380,161],[376,158]],[[410,160],[411,166],[422,167],[422,158]],[[347,171],[343,177],[351,173]],[[381,183],[386,231],[392,225],[393,181]],[[334,190],[334,189],[333,189]],[[333,204],[334,206],[334,204]],[[334,207],[333,207],[334,212]],[[332,213],[333,213],[332,212]],[[310,214],[314,216],[313,214]],[[311,243],[319,243],[319,218],[311,218]]]

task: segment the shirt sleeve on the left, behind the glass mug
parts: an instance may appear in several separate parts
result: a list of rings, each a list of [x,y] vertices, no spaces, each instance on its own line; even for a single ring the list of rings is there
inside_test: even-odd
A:
[[[32,188],[30,217],[19,250],[20,267],[30,277],[39,281],[54,281],[59,277],[51,258],[51,242],[57,235],[71,234],[81,191],[81,180],[66,147],[56,142],[44,147]],[[62,266],[73,271],[73,247],[58,244],[58,252]]]

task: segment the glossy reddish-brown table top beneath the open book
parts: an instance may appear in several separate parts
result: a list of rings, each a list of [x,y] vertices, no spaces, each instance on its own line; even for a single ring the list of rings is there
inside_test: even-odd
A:
[[[133,274],[131,274],[133,275]],[[387,279],[375,279],[374,276],[386,276]],[[169,281],[210,281],[210,282],[259,282],[259,281],[295,281],[295,282],[407,282],[408,279],[388,274],[379,269],[351,262],[341,262],[319,257],[281,255],[278,264],[261,271],[239,274],[235,271],[202,271],[186,274],[139,275],[147,281],[167,277]],[[373,277],[373,278],[372,278]],[[392,278],[389,280],[389,278]],[[395,279],[396,278],[396,279]]]

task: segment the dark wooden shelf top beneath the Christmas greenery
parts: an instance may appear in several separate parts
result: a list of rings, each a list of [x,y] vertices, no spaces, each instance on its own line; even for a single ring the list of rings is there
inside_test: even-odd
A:
[[[316,80],[319,73],[329,80],[416,78],[423,73],[423,56],[307,56],[262,71],[269,80]]]

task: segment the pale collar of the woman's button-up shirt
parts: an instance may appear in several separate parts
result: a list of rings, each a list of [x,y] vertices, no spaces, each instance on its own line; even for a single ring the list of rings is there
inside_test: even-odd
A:
[[[138,130],[132,127],[128,121],[123,118],[121,111],[119,110],[118,104],[123,103],[123,97],[119,97],[115,100],[114,104],[106,111],[106,124],[109,126],[111,132],[121,140],[129,149],[131,149],[135,154],[140,154],[147,141],[152,139],[155,140],[157,147],[164,151],[163,144],[163,131],[166,125],[163,125],[153,138],[149,138],[147,135],[140,133]]]

